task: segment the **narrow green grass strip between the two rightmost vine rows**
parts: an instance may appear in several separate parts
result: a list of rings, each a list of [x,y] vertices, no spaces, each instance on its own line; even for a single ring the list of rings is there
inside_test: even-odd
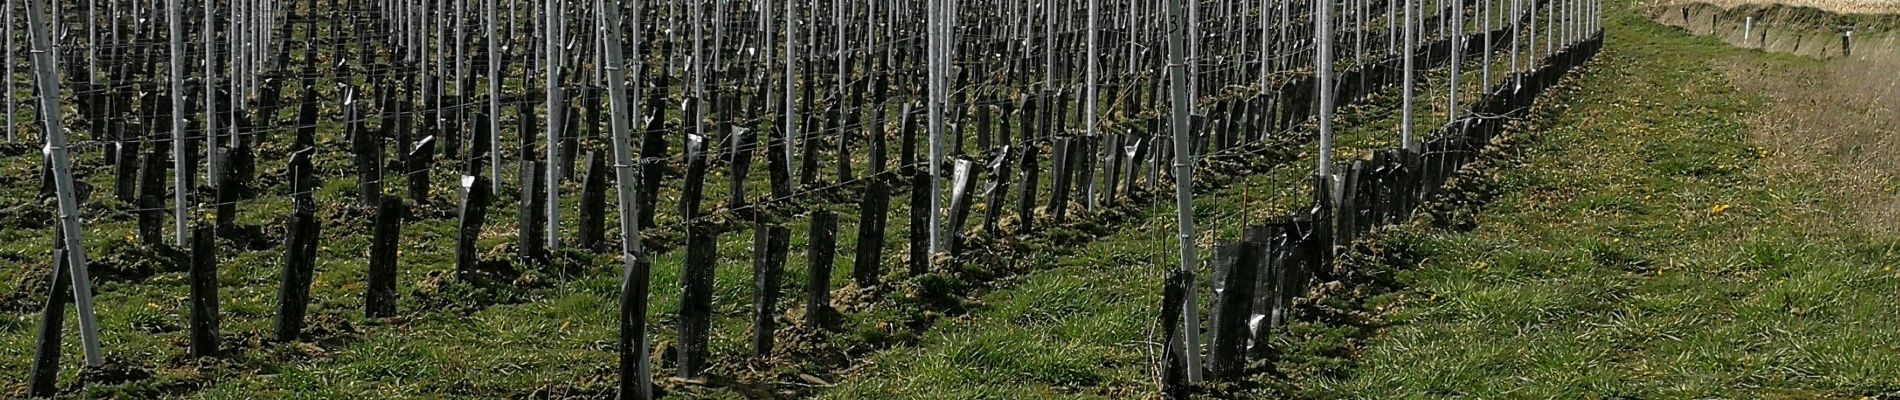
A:
[[[1509,57],[1495,59],[1509,64]],[[1480,68],[1463,70],[1476,93]],[[1495,66],[1503,70],[1505,66]],[[1501,72],[1499,72],[1501,76]],[[1446,70],[1423,74],[1421,85],[1444,87]],[[1417,135],[1444,123],[1444,89],[1419,91]],[[1469,99],[1467,99],[1469,100]],[[1370,157],[1396,146],[1396,87],[1343,108],[1336,152]],[[1436,104],[1436,106],[1425,106]],[[1296,161],[1246,176],[1227,188],[1197,191],[1201,256],[1214,237],[1235,239],[1246,222],[1286,214],[1311,201],[1317,144],[1300,146]],[[1159,207],[1130,227],[1074,254],[1036,260],[1045,271],[999,284],[978,309],[931,330],[916,347],[884,351],[864,370],[826,389],[823,398],[1146,398],[1155,394],[1150,368],[1159,356],[1161,282],[1176,269],[1174,209]],[[1203,288],[1206,273],[1203,273]],[[1203,305],[1206,303],[1203,290]],[[1345,330],[1305,324],[1302,336],[1343,339]],[[1254,396],[1233,392],[1235,396]]]

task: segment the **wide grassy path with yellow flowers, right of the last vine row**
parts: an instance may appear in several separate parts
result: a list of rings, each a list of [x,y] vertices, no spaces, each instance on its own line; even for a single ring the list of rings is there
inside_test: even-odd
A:
[[[1624,4],[1617,4],[1624,6]],[[1613,6],[1613,8],[1617,8]],[[1490,176],[1476,227],[1391,237],[1416,265],[1376,300],[1353,398],[1856,398],[1900,391],[1900,262],[1835,159],[1763,146],[1775,104],[1731,49],[1613,13],[1568,110]],[[1845,116],[1845,114],[1843,114]],[[1786,140],[1784,140],[1786,142]]]

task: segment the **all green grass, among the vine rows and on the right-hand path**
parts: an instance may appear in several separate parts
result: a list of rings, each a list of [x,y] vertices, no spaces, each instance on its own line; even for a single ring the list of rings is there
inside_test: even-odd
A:
[[[1379,237],[1383,248],[1400,250],[1391,258],[1400,265],[1378,271],[1396,271],[1396,286],[1364,286],[1372,298],[1345,300],[1349,309],[1370,315],[1376,330],[1307,315],[1277,334],[1282,356],[1273,368],[1284,377],[1260,375],[1252,387],[1229,394],[1746,398],[1900,389],[1900,372],[1892,368],[1900,364],[1894,360],[1900,341],[1887,339],[1900,322],[1890,311],[1900,282],[1889,269],[1900,243],[1856,233],[1852,220],[1841,218],[1839,193],[1814,176],[1763,171],[1763,163],[1813,159],[1767,157],[1744,142],[1748,127],[1738,116],[1759,112],[1761,100],[1729,89],[1702,64],[1759,55],[1659,28],[1624,11],[1611,21],[1607,47],[1606,61],[1577,82],[1583,89],[1562,102],[1568,110],[1550,112],[1533,135],[1520,138],[1526,155],[1507,157],[1482,180],[1493,197],[1482,212],[1459,214],[1474,218],[1476,229],[1414,224]],[[1476,85],[1478,68],[1467,64],[1465,72],[1465,83]],[[1442,87],[1444,72],[1425,80]],[[1351,121],[1340,125],[1341,157],[1396,142],[1395,97],[1379,93],[1372,106],[1341,112]],[[1442,119],[1442,110],[1425,108],[1416,123],[1429,133]],[[340,129],[325,127],[327,135],[334,131]],[[513,154],[515,140],[502,142],[502,152]],[[403,317],[363,318],[367,220],[334,207],[353,197],[352,167],[336,150],[340,144],[319,146],[327,154],[317,169],[331,180],[317,193],[329,220],[312,320],[334,334],[319,334],[315,343],[258,341],[276,313],[281,248],[234,250],[222,264],[220,298],[228,345],[239,351],[190,360],[182,339],[184,273],[154,264],[163,271],[150,279],[97,286],[108,355],[116,364],[146,368],[152,377],[93,381],[84,394],[496,398],[597,396],[612,385],[619,264],[610,256],[576,256],[570,273],[530,267],[528,277],[542,282],[519,288],[486,294],[456,284],[431,288],[443,296],[439,303],[450,305],[418,309],[418,286],[452,269],[454,220],[416,220],[405,226],[397,279]],[[673,148],[680,148],[678,140]],[[855,150],[857,157],[866,154]],[[1201,193],[1197,239],[1210,245],[1214,237],[1235,237],[1244,222],[1281,214],[1309,197],[1303,176],[1311,174],[1315,148],[1300,146],[1292,157],[1288,165]],[[82,163],[103,161],[82,155]],[[452,171],[452,163],[439,171]],[[281,174],[274,157],[260,157],[260,169]],[[866,169],[859,165],[855,173],[863,176]],[[511,182],[511,174],[505,171],[504,180]],[[724,174],[726,169],[714,169],[709,176],[709,209],[724,205]],[[28,203],[32,176],[32,157],[0,163],[0,209]],[[749,193],[764,193],[762,161],[750,176]],[[104,173],[86,178],[110,188]],[[1043,199],[1047,180],[1045,173]],[[437,174],[437,182],[448,180]],[[580,186],[568,184],[562,193],[572,201]],[[124,209],[104,197],[108,191],[97,191],[87,207]],[[450,207],[454,197],[445,186],[435,203]],[[511,258],[513,197],[504,193],[490,212],[479,245],[490,260]],[[673,210],[676,197],[676,184],[669,182],[663,210]],[[906,207],[902,195],[891,201],[885,254],[902,252]],[[842,288],[855,264],[857,212],[832,209],[842,214],[832,284]],[[241,220],[276,229],[287,210],[285,197],[264,195],[245,203]],[[809,392],[825,398],[1151,396],[1148,368],[1157,349],[1159,282],[1174,267],[1172,212],[1167,205],[1140,207],[1100,233],[1060,231],[1100,235],[1085,245],[1056,248],[1054,241],[1037,239],[1028,245],[1037,252],[1011,258],[1020,265],[1007,271],[1016,273],[963,282],[975,290],[969,301],[922,330],[899,326],[918,318],[914,303],[868,303],[847,313],[838,330],[811,337],[817,345],[806,347],[851,351],[846,355],[851,370],[821,373],[826,383],[783,373],[834,362],[792,358],[760,366],[743,356],[752,235],[726,233],[718,243],[711,353],[720,372],[758,366],[766,379],[792,381],[779,389],[813,385]],[[572,229],[572,203],[562,214]],[[676,216],[661,212],[659,222],[676,224]],[[802,218],[790,226],[788,296],[804,282],[808,233]],[[95,254],[137,262],[133,220],[106,214],[87,220],[87,227]],[[612,222],[608,229],[612,237]],[[28,265],[0,271],[0,294],[36,288],[30,279],[46,271],[49,237],[49,229],[0,227],[0,260]],[[656,343],[674,336],[682,258],[680,250],[656,254],[648,317]],[[887,277],[902,275],[899,260],[885,260]],[[973,269],[984,267],[992,265]],[[800,309],[798,303],[796,296],[781,300],[785,309]],[[0,315],[0,392],[25,387],[34,311],[36,305]],[[70,330],[68,337],[63,362],[76,366]],[[78,370],[66,368],[61,381],[76,377]],[[732,389],[688,394],[741,396]]]

